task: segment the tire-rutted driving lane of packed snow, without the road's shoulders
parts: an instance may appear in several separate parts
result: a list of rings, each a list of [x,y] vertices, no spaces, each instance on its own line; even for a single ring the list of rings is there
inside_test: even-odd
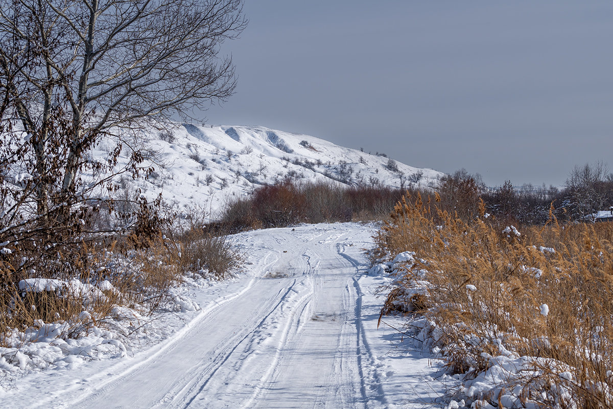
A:
[[[126,377],[114,377],[115,383],[105,383],[104,390],[97,388],[95,395],[80,400],[82,405],[105,407],[105,397],[113,399],[114,407],[124,403],[124,408],[387,405],[383,375],[362,321],[357,272],[363,263],[351,257],[354,251],[346,252],[357,230],[335,225],[299,230],[253,235],[257,246],[252,248],[251,274],[272,271],[276,278],[253,278],[232,300],[207,308],[207,318],[192,321],[185,329],[188,334],[177,338],[181,346],[168,348],[156,356],[160,362],[151,362],[154,373],[159,373],[154,376],[162,378],[150,376],[148,386],[138,386],[141,372],[151,366],[142,365]],[[195,341],[209,335],[206,348],[196,351]],[[186,337],[188,342],[181,342]],[[180,350],[172,353],[175,348],[185,349],[183,356]],[[186,361],[173,365],[172,359]],[[126,390],[121,389],[124,382],[135,396],[115,398],[118,392],[113,388]]]

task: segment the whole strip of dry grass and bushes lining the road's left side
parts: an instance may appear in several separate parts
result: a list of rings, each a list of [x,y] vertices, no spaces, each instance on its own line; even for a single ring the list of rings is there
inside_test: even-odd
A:
[[[172,289],[186,277],[223,280],[242,261],[222,232],[178,226],[159,210],[141,215],[123,232],[43,239],[5,244],[0,347],[19,348],[34,340],[28,328],[45,334],[50,323],[61,326],[54,335],[59,338],[78,338],[94,327],[112,329],[121,320],[142,324],[154,312],[183,309]]]

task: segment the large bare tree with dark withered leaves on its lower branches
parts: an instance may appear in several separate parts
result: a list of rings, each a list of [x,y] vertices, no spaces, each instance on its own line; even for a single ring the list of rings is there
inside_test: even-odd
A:
[[[101,232],[96,217],[124,201],[113,201],[110,177],[137,174],[147,156],[126,131],[232,94],[234,66],[219,47],[245,27],[242,4],[0,0],[0,242],[10,243],[0,284],[26,274],[20,260],[77,257]],[[115,145],[101,160],[91,151],[102,137]],[[122,149],[130,160],[118,169]],[[117,205],[121,226],[109,230],[156,229],[150,202],[130,197],[135,210]]]

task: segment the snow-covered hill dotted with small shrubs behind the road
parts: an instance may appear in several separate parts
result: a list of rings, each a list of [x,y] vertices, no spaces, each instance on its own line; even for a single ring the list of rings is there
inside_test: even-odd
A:
[[[233,197],[286,178],[400,188],[433,185],[443,175],[313,136],[261,126],[169,123],[140,133],[153,155],[155,171],[148,180],[135,182],[124,175],[126,190],[138,186],[151,198],[161,192],[177,210],[199,206],[213,217]],[[102,143],[94,156],[104,155],[111,147],[108,144],[105,149]],[[120,158],[120,163],[126,161],[126,156]]]

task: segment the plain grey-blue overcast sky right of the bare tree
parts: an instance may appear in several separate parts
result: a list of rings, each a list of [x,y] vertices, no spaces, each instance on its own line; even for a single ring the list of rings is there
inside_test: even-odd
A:
[[[234,96],[202,117],[485,183],[613,171],[613,2],[247,0]]]

